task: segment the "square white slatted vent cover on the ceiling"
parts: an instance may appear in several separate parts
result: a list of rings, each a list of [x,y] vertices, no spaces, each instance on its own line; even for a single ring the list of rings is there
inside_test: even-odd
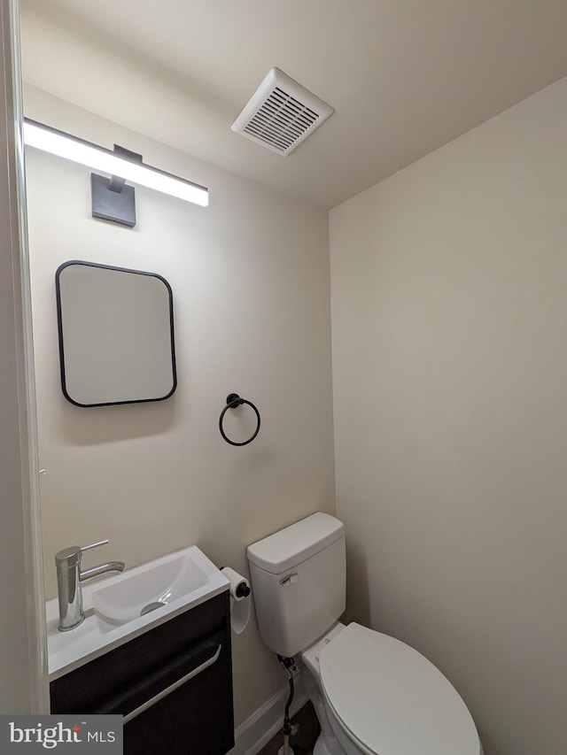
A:
[[[333,112],[278,68],[272,68],[232,130],[280,155],[289,155]]]

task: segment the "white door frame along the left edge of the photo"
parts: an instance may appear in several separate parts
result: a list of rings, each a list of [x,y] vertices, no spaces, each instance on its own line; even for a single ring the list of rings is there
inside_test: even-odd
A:
[[[0,713],[49,713],[19,0],[0,0]]]

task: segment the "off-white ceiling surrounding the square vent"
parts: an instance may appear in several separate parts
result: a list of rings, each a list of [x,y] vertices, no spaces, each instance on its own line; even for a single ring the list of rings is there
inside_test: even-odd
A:
[[[567,0],[22,0],[25,81],[333,207],[567,75]],[[276,66],[334,114],[282,157],[230,125]]]

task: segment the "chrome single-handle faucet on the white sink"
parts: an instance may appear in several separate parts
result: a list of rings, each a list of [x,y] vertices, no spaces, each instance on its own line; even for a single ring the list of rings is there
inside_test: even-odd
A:
[[[82,610],[81,582],[98,577],[101,574],[113,574],[124,571],[123,561],[108,561],[105,564],[92,566],[89,569],[81,569],[81,557],[84,551],[97,548],[98,545],[106,545],[108,540],[100,543],[92,543],[81,548],[72,545],[55,554],[55,567],[57,569],[57,592],[59,601],[59,632],[68,632],[69,629],[78,627],[85,620]]]

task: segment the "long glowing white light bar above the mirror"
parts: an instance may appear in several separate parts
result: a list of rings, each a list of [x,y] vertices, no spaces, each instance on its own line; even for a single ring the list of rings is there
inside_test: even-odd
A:
[[[119,157],[113,150],[98,147],[97,144],[85,142],[76,136],[44,126],[43,123],[35,120],[24,119],[24,143],[29,147],[58,155],[60,158],[73,160],[82,166],[119,176],[139,186],[177,196],[186,202],[200,204],[201,207],[209,204],[208,189],[199,186],[198,183],[185,181],[159,168]]]

